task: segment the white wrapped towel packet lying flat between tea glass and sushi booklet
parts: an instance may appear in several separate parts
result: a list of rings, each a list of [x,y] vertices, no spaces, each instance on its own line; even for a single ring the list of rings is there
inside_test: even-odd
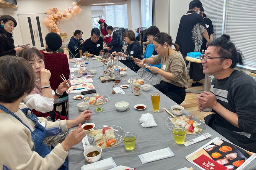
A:
[[[148,162],[153,162],[155,160],[165,159],[168,157],[174,156],[173,151],[169,147],[165,149],[159,149],[157,151],[148,152],[145,154],[139,155],[140,161],[142,164],[146,164]]]

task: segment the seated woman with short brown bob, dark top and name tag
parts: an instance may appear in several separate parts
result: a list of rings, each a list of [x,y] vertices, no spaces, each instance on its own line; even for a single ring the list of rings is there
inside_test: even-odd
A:
[[[120,60],[123,64],[129,67],[132,71],[137,72],[140,67],[134,63],[134,58],[142,60],[142,50],[138,40],[135,40],[135,34],[132,30],[124,32],[124,41],[128,47],[124,53],[113,53],[113,55],[124,56],[126,60]]]

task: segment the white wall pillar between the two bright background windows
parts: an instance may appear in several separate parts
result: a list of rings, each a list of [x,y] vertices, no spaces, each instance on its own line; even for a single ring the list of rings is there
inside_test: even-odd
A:
[[[128,29],[135,30],[141,27],[141,7],[140,0],[128,0],[127,1],[127,19]]]

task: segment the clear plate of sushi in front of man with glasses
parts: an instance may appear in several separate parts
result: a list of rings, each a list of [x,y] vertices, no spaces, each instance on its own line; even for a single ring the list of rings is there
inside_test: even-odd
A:
[[[188,135],[201,133],[206,130],[205,123],[191,115],[170,116],[165,120],[165,127],[171,132],[174,127],[184,127],[188,130]]]

